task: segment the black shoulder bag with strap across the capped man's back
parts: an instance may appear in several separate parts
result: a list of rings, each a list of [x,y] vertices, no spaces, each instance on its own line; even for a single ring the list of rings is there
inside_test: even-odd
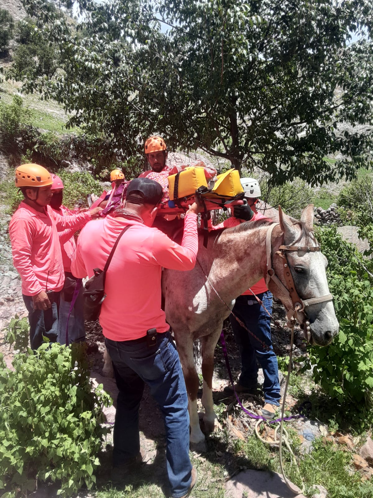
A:
[[[99,268],[94,268],[93,272],[94,275],[91,277],[89,280],[86,282],[85,289],[83,291],[83,312],[84,312],[84,318],[85,320],[97,320],[100,311],[101,311],[101,304],[103,300],[105,299],[105,276],[106,276],[106,271],[107,268],[109,267],[111,258],[113,257],[114,251],[116,249],[116,246],[118,245],[118,242],[124,232],[129,229],[131,225],[127,225],[126,228],[122,230],[120,233],[119,237],[115,241],[115,244],[113,248],[111,249],[111,252],[109,254],[109,257],[107,258],[105,267],[103,270],[100,270]]]

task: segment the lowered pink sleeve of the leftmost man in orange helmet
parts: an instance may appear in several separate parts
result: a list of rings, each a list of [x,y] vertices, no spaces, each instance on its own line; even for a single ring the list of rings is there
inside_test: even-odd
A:
[[[42,290],[32,267],[32,240],[35,236],[34,227],[29,220],[18,218],[17,223],[9,225],[13,264],[18,271],[22,284],[31,296],[36,296]]]

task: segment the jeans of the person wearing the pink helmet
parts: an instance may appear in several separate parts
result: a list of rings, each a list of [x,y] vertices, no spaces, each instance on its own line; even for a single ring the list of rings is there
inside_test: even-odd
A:
[[[69,316],[71,302],[60,299],[60,311],[58,316],[58,339],[60,344],[66,344],[66,326]],[[83,285],[79,291],[77,300],[71,310],[69,318],[69,344],[82,342],[86,339],[83,314]]]

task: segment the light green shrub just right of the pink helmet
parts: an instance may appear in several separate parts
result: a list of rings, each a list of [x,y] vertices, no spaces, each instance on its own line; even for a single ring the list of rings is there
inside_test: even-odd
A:
[[[82,201],[83,205],[87,206],[87,194],[102,193],[102,187],[91,173],[69,173],[66,169],[59,169],[57,174],[65,186],[63,204],[68,208],[74,208],[77,201]]]

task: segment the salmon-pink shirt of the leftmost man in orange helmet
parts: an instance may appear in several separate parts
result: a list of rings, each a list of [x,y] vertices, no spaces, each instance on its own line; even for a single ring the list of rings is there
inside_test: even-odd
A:
[[[22,281],[22,294],[36,296],[42,290],[59,291],[64,286],[58,230],[82,228],[91,220],[89,211],[61,216],[50,206],[40,213],[21,202],[9,224],[13,264]]]

